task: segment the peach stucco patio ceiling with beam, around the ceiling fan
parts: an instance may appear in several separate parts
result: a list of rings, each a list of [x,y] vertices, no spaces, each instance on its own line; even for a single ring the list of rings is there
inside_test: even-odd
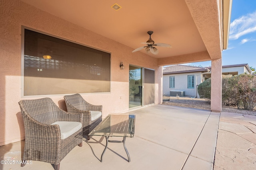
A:
[[[202,0],[22,0],[54,16],[80,25],[90,31],[118,41],[133,49],[142,47],[154,31],[155,43],[167,43],[172,48],[157,47],[155,58],[191,53],[221,51],[220,18],[216,1]],[[122,8],[114,10],[117,3]],[[203,3],[203,4],[201,4]],[[201,4],[198,6],[198,4]],[[212,20],[214,18],[214,20]],[[207,21],[207,22],[206,22]],[[213,24],[215,21],[215,25]],[[212,22],[212,23],[211,23]],[[206,27],[207,26],[207,27]],[[200,28],[202,27],[202,28]],[[207,30],[207,31],[206,31]],[[212,33],[208,37],[208,33]],[[217,38],[216,38],[217,37]],[[211,47],[212,42],[218,42]],[[140,52],[146,53],[144,49]],[[139,53],[139,52],[136,52]],[[219,55],[219,53],[217,54]],[[216,57],[215,57],[216,58]]]

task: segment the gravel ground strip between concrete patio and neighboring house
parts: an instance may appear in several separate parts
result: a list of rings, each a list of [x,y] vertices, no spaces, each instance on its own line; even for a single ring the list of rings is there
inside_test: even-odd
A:
[[[201,98],[163,96],[162,104],[180,107],[190,107],[196,109],[211,109],[211,102],[209,100]],[[240,113],[244,115],[256,115],[256,108],[254,109],[254,111],[249,111],[244,109],[237,109],[237,107],[233,106],[222,106],[222,112]]]

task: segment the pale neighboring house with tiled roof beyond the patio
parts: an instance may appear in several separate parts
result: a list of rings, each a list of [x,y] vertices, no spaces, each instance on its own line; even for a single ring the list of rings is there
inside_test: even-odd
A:
[[[211,77],[211,67],[172,65],[163,68],[163,94],[170,96],[198,96],[197,85]],[[222,66],[222,74],[238,75],[252,70],[248,64]]]

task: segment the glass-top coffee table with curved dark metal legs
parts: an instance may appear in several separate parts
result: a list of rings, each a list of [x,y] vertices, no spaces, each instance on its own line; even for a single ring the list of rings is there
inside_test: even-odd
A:
[[[103,155],[108,147],[108,142],[123,143],[124,149],[130,162],[130,155],[125,147],[126,137],[134,137],[135,115],[128,114],[110,114],[98,126],[94,128],[88,135],[106,137],[106,146],[102,152],[100,161],[102,162]],[[122,141],[110,141],[109,137],[123,137]]]

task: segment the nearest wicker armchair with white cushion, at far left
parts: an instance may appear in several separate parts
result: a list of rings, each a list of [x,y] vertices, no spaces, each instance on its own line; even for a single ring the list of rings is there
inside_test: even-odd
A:
[[[50,98],[18,103],[25,127],[22,160],[48,162],[59,170],[60,161],[68,152],[76,145],[82,147],[83,115],[61,110]]]

